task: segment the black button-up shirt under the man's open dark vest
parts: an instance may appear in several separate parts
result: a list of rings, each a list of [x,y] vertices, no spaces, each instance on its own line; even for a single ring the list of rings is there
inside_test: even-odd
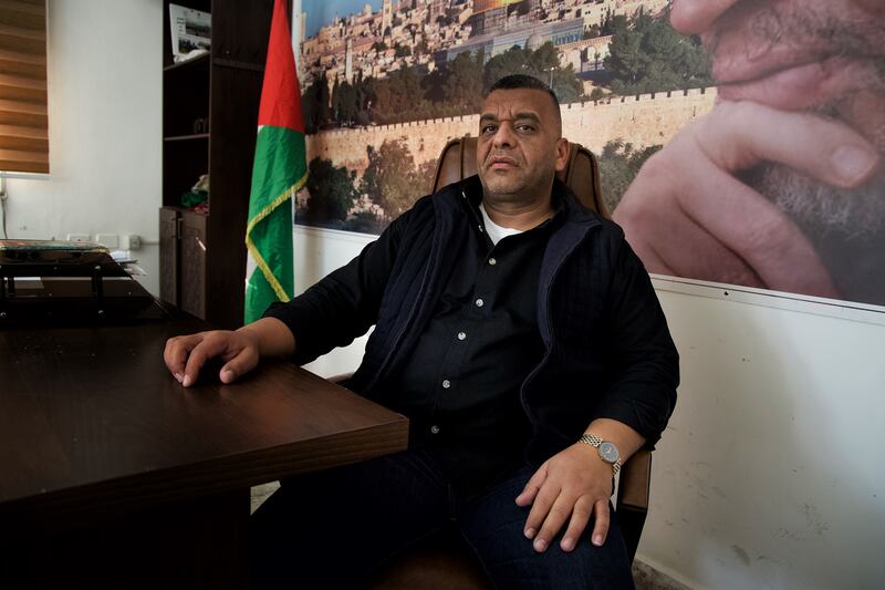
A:
[[[538,282],[558,215],[493,245],[477,204],[434,317],[394,384],[392,408],[410,421],[409,446],[427,448],[457,491],[470,494],[523,460],[531,436],[520,385],[544,352]]]

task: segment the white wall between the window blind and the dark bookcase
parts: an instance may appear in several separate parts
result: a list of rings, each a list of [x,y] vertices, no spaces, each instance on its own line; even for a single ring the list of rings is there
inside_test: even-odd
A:
[[[49,179],[10,179],[10,238],[137,234],[159,292],[163,3],[49,0]],[[196,180],[196,179],[195,179]]]

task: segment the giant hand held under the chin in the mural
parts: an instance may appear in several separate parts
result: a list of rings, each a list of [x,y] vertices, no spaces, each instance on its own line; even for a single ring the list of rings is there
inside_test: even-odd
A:
[[[722,101],[643,165],[614,220],[649,272],[839,297],[802,232],[735,177],[762,161],[841,187],[863,183],[878,164],[847,126]]]

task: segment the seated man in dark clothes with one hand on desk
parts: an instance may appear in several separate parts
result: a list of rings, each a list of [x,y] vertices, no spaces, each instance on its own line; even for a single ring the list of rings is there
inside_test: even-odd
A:
[[[621,229],[558,178],[555,94],[489,92],[478,176],[415,206],[348,265],[236,332],[169,340],[185,386],[263,356],[309,362],[375,330],[352,390],[409,417],[406,452],[289,482],[252,518],[256,588],[343,588],[455,527],[498,588],[632,588],[613,475],[660,436],[678,355]]]

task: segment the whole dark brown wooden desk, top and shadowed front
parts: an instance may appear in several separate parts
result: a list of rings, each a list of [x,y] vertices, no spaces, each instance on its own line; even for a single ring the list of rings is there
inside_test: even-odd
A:
[[[278,363],[185,390],[196,320],[0,329],[0,587],[240,588],[249,487],[402,451],[407,421]]]

